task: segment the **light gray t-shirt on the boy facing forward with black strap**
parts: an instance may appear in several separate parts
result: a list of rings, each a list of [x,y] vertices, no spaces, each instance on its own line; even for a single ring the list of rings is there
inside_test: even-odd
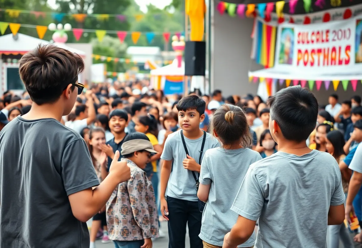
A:
[[[171,133],[166,141],[161,155],[163,160],[173,160],[172,172],[168,180],[166,195],[169,197],[197,201],[196,182],[192,172],[185,169],[182,161],[186,158],[186,152],[181,140],[181,130]],[[185,137],[185,136],[184,136]],[[189,155],[199,163],[200,149],[202,145],[203,136],[196,140],[190,140],[185,137],[185,143]],[[219,141],[212,137],[210,133],[206,133],[205,146],[203,155],[207,149],[220,146]],[[196,176],[198,173],[195,172]]]

